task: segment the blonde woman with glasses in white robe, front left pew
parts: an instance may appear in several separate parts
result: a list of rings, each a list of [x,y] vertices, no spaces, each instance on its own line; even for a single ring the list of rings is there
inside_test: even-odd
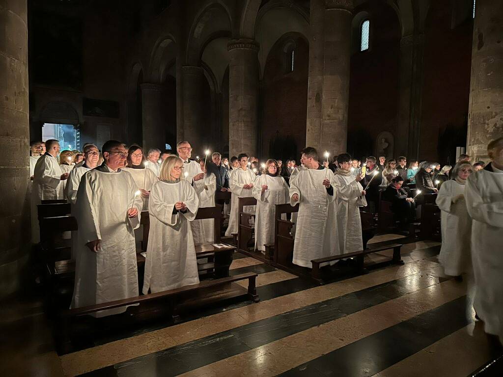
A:
[[[199,209],[199,198],[187,179],[180,179],[184,163],[169,156],[160,179],[150,192],[147,256],[143,293],[162,292],[199,283],[196,250],[190,222]]]

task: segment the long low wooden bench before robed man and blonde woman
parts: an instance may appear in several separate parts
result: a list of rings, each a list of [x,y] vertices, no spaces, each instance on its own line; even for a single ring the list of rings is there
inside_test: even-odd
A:
[[[77,317],[95,314],[97,312],[120,308],[128,305],[161,304],[173,316],[174,320],[180,314],[190,309],[201,308],[216,301],[247,297],[251,302],[260,301],[257,295],[255,272],[247,272],[235,276],[228,276],[214,280],[201,281],[199,284],[176,288],[172,290],[150,293],[131,297],[123,300],[111,301],[97,305],[91,305],[75,309],[67,309],[60,313],[59,331],[57,332],[57,344],[60,352],[71,350],[72,323]],[[236,281],[248,280],[248,288],[243,288]]]

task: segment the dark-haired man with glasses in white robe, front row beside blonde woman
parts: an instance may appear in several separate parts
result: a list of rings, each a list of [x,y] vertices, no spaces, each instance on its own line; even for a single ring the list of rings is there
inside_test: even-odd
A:
[[[75,284],[71,308],[138,296],[134,229],[143,205],[136,183],[124,166],[124,145],[109,140],[103,145],[104,162],[87,171],[77,191],[78,223]],[[104,310],[103,317],[123,313],[126,307]]]

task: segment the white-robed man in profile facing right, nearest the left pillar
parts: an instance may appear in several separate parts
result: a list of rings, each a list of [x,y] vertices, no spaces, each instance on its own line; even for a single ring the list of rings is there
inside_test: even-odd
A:
[[[68,173],[63,173],[56,156],[59,154],[59,142],[49,139],[45,142],[47,152],[37,160],[33,173],[31,226],[32,242],[40,242],[40,228],[37,216],[37,205],[43,200],[64,199],[61,182],[68,178]]]

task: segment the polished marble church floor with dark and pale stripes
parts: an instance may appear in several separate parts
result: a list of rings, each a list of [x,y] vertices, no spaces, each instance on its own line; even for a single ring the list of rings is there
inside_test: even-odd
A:
[[[259,303],[208,308],[177,324],[104,331],[61,355],[42,300],[32,293],[0,307],[0,375],[503,375],[503,351],[475,321],[470,277],[444,275],[438,242],[389,234],[371,242],[393,240],[404,244],[405,265],[323,286],[236,254],[231,274],[259,274]],[[500,361],[478,371],[493,360]]]

